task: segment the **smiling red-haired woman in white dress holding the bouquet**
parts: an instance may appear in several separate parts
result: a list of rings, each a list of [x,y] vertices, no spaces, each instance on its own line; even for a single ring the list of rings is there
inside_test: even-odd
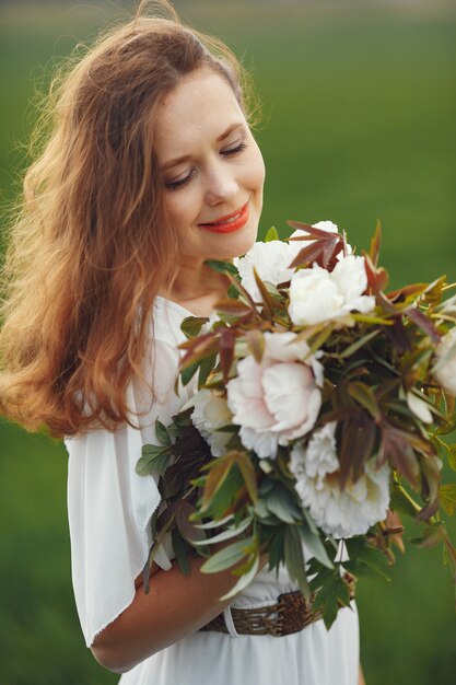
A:
[[[169,539],[142,587],[160,495],[135,465],[191,393],[174,393],[182,320],[226,292],[204,262],[253,245],[265,176],[236,59],[168,11],[103,37],[58,89],[7,262],[2,409],[66,437],[81,626],[122,685],[354,685],[354,605],[329,632],[239,635],[219,599],[236,578],[200,559],[184,577]],[[295,591],[266,562],[232,607]]]

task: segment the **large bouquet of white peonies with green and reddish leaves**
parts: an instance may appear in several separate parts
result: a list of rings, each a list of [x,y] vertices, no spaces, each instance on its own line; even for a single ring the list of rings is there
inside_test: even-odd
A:
[[[234,264],[210,318],[183,322],[182,383],[196,383],[138,473],[159,472],[163,501],[144,569],[171,531],[185,572],[233,568],[245,588],[268,554],[285,565],[329,628],[350,601],[342,578],[385,574],[404,550],[401,515],[421,525],[420,547],[456,549],[442,513],[456,485],[456,295],[445,278],[386,291],[379,227],[358,256],[329,221],[271,229]],[[342,541],[342,544],[341,544]],[[211,545],[220,543],[218,552]],[[343,554],[341,554],[341,547]],[[213,549],[213,547],[212,547]]]

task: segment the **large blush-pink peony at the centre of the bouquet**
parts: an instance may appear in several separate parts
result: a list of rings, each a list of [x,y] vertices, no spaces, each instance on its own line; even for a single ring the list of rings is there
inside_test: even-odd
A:
[[[294,333],[266,333],[261,363],[242,359],[237,378],[226,386],[241,441],[259,457],[274,457],[279,444],[305,436],[318,416],[321,364],[307,359],[307,344],[295,338]]]

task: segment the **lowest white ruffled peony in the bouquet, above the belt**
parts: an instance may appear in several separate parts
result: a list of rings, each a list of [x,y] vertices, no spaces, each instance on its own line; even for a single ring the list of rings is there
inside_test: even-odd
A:
[[[386,518],[389,467],[377,471],[367,463],[361,478],[340,490],[336,449],[336,423],[315,431],[306,448],[295,445],[290,460],[295,488],[325,533],[335,537],[364,535],[371,525]]]

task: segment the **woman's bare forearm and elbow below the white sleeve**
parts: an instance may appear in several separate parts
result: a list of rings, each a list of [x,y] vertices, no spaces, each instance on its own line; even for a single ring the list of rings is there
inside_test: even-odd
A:
[[[267,557],[262,558],[262,565]],[[92,652],[109,671],[125,673],[155,652],[195,632],[230,602],[220,602],[237,582],[231,570],[201,573],[204,559],[191,559],[184,576],[176,562],[169,571],[154,569],[149,594],[137,582],[130,606],[100,632]]]

